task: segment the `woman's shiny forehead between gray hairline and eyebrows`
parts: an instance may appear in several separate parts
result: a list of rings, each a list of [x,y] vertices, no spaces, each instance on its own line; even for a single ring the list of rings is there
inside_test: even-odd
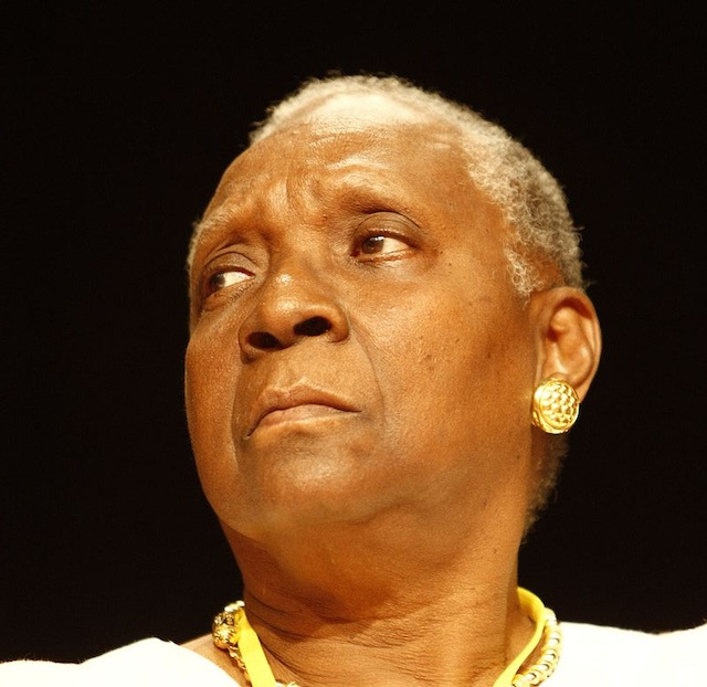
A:
[[[369,112],[370,110],[366,110]],[[471,183],[461,147],[449,128],[419,118],[361,119],[350,109],[298,119],[242,152],[225,170],[197,232],[236,199],[257,200],[276,183],[326,180],[394,192],[430,179]]]

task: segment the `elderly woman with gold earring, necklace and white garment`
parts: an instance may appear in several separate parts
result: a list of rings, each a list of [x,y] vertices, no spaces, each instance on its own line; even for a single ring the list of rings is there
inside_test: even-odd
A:
[[[697,678],[707,626],[558,623],[518,588],[601,342],[560,187],[502,128],[394,77],[309,81],[225,171],[189,273],[189,430],[243,601],[53,684]]]

